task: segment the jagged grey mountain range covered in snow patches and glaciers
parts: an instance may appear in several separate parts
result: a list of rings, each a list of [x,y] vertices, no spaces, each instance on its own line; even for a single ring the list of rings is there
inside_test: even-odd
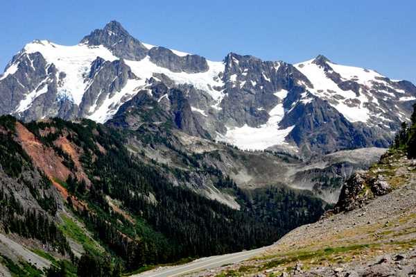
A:
[[[172,101],[173,88],[183,92],[187,104],[181,107],[192,114],[182,131],[202,126],[211,138],[242,149],[306,156],[388,146],[416,100],[416,87],[408,81],[323,56],[290,65],[229,53],[211,62],[143,44],[109,22],[73,47],[47,40],[27,44],[0,76],[0,112],[25,121],[59,116],[103,123],[122,105],[128,110],[139,103],[135,97],[141,94],[171,110],[182,103]]]

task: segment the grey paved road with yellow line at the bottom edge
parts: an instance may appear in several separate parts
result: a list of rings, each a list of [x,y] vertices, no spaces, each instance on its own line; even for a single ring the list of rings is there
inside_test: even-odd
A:
[[[222,265],[233,264],[234,262],[241,262],[242,260],[247,260],[265,251],[269,247],[270,246],[265,246],[263,248],[254,249],[250,251],[202,258],[193,262],[189,262],[189,264],[186,265],[179,265],[177,267],[168,267],[166,269],[144,272],[142,274],[133,275],[131,277],[177,277],[184,274],[191,274],[193,272],[198,272],[204,269],[212,269],[220,267]]]

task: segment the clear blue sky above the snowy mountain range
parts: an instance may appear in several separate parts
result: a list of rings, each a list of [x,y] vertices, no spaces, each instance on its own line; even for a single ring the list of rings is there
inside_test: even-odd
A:
[[[25,44],[75,45],[116,20],[139,41],[220,61],[322,54],[416,84],[416,1],[21,1],[0,10],[0,72]]]

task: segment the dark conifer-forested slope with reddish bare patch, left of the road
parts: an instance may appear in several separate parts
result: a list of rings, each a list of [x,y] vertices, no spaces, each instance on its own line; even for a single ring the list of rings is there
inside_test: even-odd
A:
[[[103,270],[106,262],[114,270],[120,262],[123,270],[134,271],[259,247],[324,212],[322,201],[285,187],[242,190],[204,162],[209,153],[175,149],[179,139],[169,122],[142,124],[133,131],[87,119],[0,119],[0,197],[6,207],[0,228],[59,267],[63,264],[56,260],[71,260],[75,266],[66,265],[72,274],[88,257]],[[175,149],[172,158],[181,160],[158,161],[148,157],[146,148],[135,153],[133,141]],[[234,209],[198,193],[198,185],[208,183],[198,183],[198,176],[209,181],[205,190],[236,203]],[[19,264],[18,255],[1,253]]]

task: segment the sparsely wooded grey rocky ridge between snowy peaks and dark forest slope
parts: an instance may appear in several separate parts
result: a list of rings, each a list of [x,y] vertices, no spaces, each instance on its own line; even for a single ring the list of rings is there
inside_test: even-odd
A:
[[[385,152],[385,149],[376,148],[339,151],[302,161],[299,156],[286,155],[279,149],[241,151],[235,146],[205,140],[204,133],[196,137],[180,132],[183,129],[177,130],[177,117],[166,108],[171,103],[169,99],[175,97],[171,91],[157,83],[151,94],[164,95],[163,101],[159,102],[151,97],[149,91],[139,92],[123,104],[106,125],[137,131],[128,141],[130,151],[169,167],[191,171],[191,178],[187,179],[190,181],[185,182],[188,187],[234,207],[238,206],[235,201],[209,189],[214,184],[205,173],[198,172],[199,167],[212,167],[221,171],[230,176],[239,187],[255,189],[289,186],[304,190],[305,194],[313,193],[328,203],[336,203],[340,187],[347,178],[354,171],[370,167]],[[182,110],[182,115],[187,115],[187,110]],[[188,115],[192,114],[188,112]],[[187,118],[189,117],[185,117],[185,120]],[[365,157],[361,153],[365,153]]]

